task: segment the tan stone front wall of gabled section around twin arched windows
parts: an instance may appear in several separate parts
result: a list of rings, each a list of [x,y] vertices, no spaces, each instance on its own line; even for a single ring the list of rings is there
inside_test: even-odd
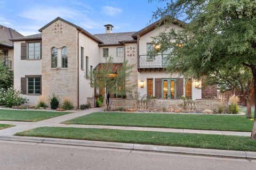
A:
[[[51,68],[51,49],[68,48],[68,68]],[[61,66],[61,60],[58,60]],[[60,104],[64,97],[77,106],[77,29],[60,20],[42,31],[42,95],[58,95]]]

